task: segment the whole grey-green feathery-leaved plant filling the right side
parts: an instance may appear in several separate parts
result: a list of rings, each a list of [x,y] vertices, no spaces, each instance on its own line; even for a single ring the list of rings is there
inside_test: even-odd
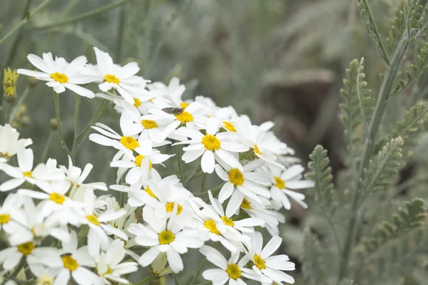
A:
[[[427,282],[426,195],[412,192],[426,172],[409,177],[404,171],[417,161],[414,147],[427,127],[427,4],[403,1],[389,33],[382,35],[369,1],[357,1],[382,58],[381,83],[371,90],[364,58],[351,61],[340,92],[346,168],[334,179],[327,150],[318,145],[310,155],[306,177],[315,182],[317,221],[327,229],[305,230],[305,284]]]

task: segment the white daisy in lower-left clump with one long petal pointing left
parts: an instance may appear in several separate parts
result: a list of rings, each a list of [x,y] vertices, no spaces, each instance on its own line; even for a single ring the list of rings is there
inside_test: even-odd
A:
[[[54,221],[61,224],[77,225],[79,223],[75,210],[80,209],[84,204],[66,197],[66,192],[68,192],[70,186],[70,182],[62,180],[40,185],[39,187],[44,192],[19,189],[18,194],[43,200],[40,202],[40,206],[38,206],[40,207],[40,214],[43,217],[48,217],[55,212],[50,219],[54,219]]]

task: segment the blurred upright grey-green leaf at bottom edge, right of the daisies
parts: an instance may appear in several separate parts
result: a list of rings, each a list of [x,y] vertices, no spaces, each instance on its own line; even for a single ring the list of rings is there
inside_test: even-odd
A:
[[[320,246],[317,236],[312,234],[309,228],[303,230],[303,249],[302,273],[305,284],[325,284],[322,282],[326,276],[326,262],[322,259],[324,250]]]

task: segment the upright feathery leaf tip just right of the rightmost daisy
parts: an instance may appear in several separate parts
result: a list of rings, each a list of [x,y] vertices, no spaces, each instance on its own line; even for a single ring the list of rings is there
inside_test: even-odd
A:
[[[335,190],[332,183],[332,167],[330,159],[327,156],[327,150],[321,145],[317,145],[310,154],[308,164],[309,172],[305,177],[315,182],[315,201],[318,202],[327,214],[335,212],[336,204],[334,201]]]

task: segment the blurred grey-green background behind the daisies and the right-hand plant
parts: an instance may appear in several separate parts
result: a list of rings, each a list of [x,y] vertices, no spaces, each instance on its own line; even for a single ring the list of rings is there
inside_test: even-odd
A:
[[[34,9],[41,2],[0,0],[3,34],[23,19],[27,7]],[[63,22],[118,2],[121,5],[114,9]],[[371,2],[378,28],[386,35],[399,0]],[[67,61],[83,54],[93,63],[93,46],[110,53],[117,63],[137,61],[146,79],[168,83],[177,76],[187,87],[185,98],[205,95],[220,106],[233,105],[254,123],[273,120],[277,136],[295,149],[303,165],[315,145],[324,145],[334,175],[344,165],[337,108],[345,68],[353,58],[364,56],[367,81],[377,90],[383,66],[355,0],[52,0],[0,46],[0,69],[33,68],[26,55],[48,51]],[[19,78],[18,98],[28,84],[29,78]],[[71,143],[74,98],[68,92],[60,96],[63,133]],[[51,88],[37,83],[24,104],[14,124],[22,137],[34,140],[38,161],[55,116]],[[81,125],[88,123],[97,105],[97,100],[82,99]],[[118,130],[113,108],[102,122]],[[67,163],[56,136],[48,155]],[[113,184],[114,170],[108,167],[112,156],[113,150],[87,140],[77,162],[95,166],[91,180]],[[215,182],[208,180],[206,185]],[[308,204],[311,207],[310,197]],[[292,275],[302,284],[302,228],[317,224],[317,216],[296,204],[284,214],[282,250],[296,262]],[[194,257],[190,262],[199,264],[201,257]],[[189,266],[187,270],[192,271]]]

